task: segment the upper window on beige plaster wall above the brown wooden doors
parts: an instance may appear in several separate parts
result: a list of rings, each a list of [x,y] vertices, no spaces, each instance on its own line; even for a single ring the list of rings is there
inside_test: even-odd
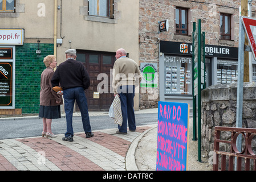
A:
[[[88,0],[88,15],[113,18],[113,0]]]

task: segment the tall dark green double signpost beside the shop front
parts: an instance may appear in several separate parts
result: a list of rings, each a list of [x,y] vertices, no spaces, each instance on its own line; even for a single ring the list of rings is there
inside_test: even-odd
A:
[[[198,19],[197,27],[196,22],[193,22],[192,45],[193,140],[198,140],[198,161],[201,162],[201,89],[205,89],[205,32],[201,33],[201,19]],[[196,136],[196,120],[198,122],[198,139]]]

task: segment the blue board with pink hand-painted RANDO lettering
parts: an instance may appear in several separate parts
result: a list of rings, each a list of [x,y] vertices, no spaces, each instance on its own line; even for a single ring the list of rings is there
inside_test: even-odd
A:
[[[157,171],[186,171],[188,165],[189,105],[159,102]]]

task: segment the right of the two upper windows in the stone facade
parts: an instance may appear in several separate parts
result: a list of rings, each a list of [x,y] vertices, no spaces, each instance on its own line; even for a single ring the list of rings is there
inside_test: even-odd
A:
[[[231,40],[231,15],[221,13],[220,17],[221,39]]]

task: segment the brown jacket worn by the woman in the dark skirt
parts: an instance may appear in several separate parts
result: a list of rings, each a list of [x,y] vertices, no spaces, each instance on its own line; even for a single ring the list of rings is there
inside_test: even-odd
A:
[[[51,87],[51,78],[54,71],[47,67],[41,74],[41,90],[40,90],[40,105],[42,106],[58,106],[63,104],[62,96],[57,94]],[[56,101],[60,101],[57,104]]]

